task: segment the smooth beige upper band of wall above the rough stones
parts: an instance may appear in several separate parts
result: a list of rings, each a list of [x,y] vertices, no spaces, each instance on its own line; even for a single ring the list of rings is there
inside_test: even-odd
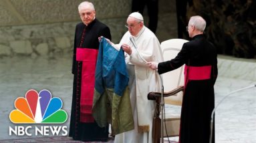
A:
[[[78,21],[82,0],[1,0],[0,26]],[[124,17],[130,12],[127,0],[92,1],[99,18]],[[122,5],[119,5],[122,3]]]

